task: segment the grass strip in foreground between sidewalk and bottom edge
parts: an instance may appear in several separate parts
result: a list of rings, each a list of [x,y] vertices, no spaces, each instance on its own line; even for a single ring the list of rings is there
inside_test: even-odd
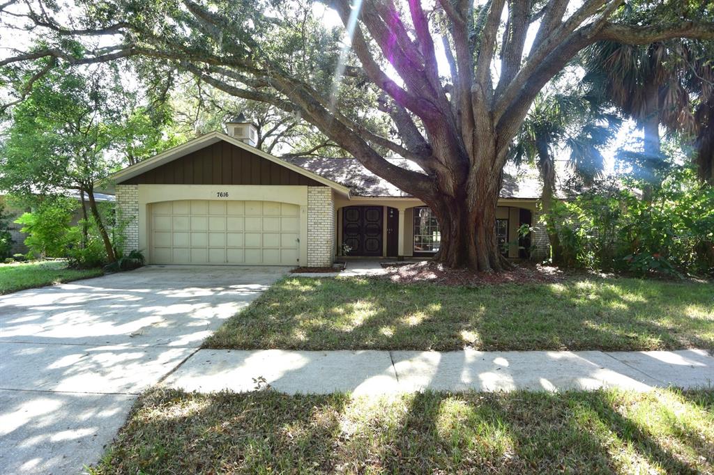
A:
[[[139,398],[92,474],[694,474],[714,391]]]

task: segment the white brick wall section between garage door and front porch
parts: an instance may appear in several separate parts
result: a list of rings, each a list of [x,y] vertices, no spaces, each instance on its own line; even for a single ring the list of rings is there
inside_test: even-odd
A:
[[[331,188],[308,187],[309,267],[326,267],[335,259],[335,203]]]

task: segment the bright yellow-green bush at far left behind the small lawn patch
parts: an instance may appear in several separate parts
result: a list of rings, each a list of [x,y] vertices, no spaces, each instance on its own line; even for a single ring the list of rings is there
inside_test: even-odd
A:
[[[54,198],[44,200],[31,213],[24,213],[15,223],[23,225],[25,245],[32,257],[65,257],[73,236],[70,233],[76,200]]]

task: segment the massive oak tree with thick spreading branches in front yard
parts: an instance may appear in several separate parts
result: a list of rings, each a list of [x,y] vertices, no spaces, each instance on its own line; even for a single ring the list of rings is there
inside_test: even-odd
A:
[[[13,11],[56,39],[1,60],[6,77],[40,58],[143,56],[296,113],[434,210],[436,260],[477,270],[506,265],[493,233],[503,166],[551,78],[597,41],[714,39],[707,0],[328,0],[351,32],[349,53],[340,48],[344,30],[324,27],[307,0],[75,1],[76,16],[44,0]],[[636,22],[625,14],[631,9]],[[88,46],[99,37],[99,46]],[[16,84],[20,94],[26,86]],[[378,114],[392,124],[389,136],[370,126]],[[383,150],[423,173],[391,164]]]

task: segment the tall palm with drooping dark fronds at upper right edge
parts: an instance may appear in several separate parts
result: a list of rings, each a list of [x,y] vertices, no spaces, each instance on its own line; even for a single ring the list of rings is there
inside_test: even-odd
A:
[[[643,153],[639,158],[628,156],[635,158],[633,165],[639,165],[640,175],[650,183],[663,164],[660,125],[693,139],[699,151],[700,178],[710,179],[711,57],[711,42],[683,39],[646,46],[603,41],[583,52],[585,81],[643,129]],[[650,187],[644,191],[647,199]]]

